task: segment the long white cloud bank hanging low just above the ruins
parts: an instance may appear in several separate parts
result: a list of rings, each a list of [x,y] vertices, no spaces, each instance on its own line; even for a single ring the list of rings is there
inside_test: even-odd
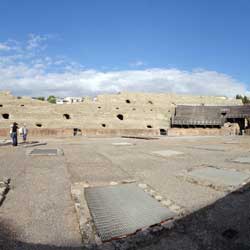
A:
[[[120,91],[235,96],[247,92],[242,82],[229,75],[205,69],[84,69],[62,57],[39,55],[37,48],[41,48],[41,42],[46,41],[41,37],[29,37],[26,45],[30,53],[22,49],[17,54],[0,55],[0,89],[11,90],[16,95],[31,96],[84,96]]]

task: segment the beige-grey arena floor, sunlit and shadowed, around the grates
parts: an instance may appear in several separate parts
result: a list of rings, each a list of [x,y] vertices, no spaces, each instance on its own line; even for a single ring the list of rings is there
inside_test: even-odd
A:
[[[84,249],[71,185],[123,180],[150,185],[186,214],[170,230],[141,233],[97,249],[250,249],[247,183],[238,192],[226,193],[185,179],[187,171],[204,166],[249,173],[248,164],[232,159],[249,156],[250,137],[136,140],[83,136],[39,141],[47,143],[39,148],[59,148],[64,155],[30,156],[24,145],[0,145],[0,177],[11,178],[11,189],[0,207],[0,249]],[[201,146],[220,150],[201,150]],[[168,150],[182,154],[162,157],[153,153]],[[229,229],[235,235],[225,236]]]

